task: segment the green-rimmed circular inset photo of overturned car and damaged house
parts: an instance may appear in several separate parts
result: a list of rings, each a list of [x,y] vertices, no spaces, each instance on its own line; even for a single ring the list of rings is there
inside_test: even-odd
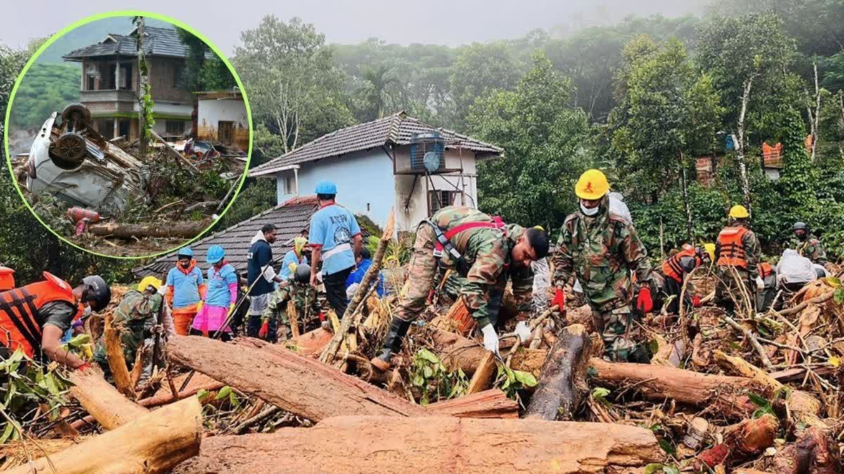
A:
[[[5,120],[24,202],[59,238],[101,256],[196,240],[237,196],[252,145],[228,59],[153,13],[97,15],[46,40]]]

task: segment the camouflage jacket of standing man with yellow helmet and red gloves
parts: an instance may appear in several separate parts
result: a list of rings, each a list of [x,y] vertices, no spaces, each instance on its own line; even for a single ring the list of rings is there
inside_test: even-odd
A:
[[[638,286],[652,287],[651,263],[633,224],[609,212],[604,197],[598,214],[580,212],[565,218],[554,262],[554,285],[562,288],[577,277],[593,310],[612,310],[633,299],[631,275]]]

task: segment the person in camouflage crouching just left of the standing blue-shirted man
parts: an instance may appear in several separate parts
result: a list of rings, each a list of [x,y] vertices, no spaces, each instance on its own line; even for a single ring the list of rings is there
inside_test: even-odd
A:
[[[279,288],[270,296],[262,320],[265,322],[286,320],[288,301],[293,301],[302,329],[308,331],[305,325],[314,315],[318,315],[320,310],[317,305],[317,288],[311,286],[311,266],[307,263],[297,265],[295,271],[289,274],[287,280],[279,283]],[[274,325],[269,324],[268,326]],[[280,322],[279,326],[284,326],[284,322]],[[287,330],[284,330],[284,332],[286,333]],[[286,336],[282,337],[282,339],[284,338]]]

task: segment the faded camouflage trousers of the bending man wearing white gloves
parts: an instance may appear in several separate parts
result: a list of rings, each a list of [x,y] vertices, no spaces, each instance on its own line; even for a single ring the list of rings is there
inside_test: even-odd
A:
[[[437,280],[437,263],[434,256],[436,235],[430,225],[421,224],[416,230],[416,242],[408,266],[408,284],[398,301],[396,317],[404,321],[416,320],[425,310],[425,301]]]

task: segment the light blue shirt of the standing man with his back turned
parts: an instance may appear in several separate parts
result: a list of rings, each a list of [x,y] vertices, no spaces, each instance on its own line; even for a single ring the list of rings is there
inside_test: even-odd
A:
[[[331,275],[354,267],[351,241],[360,234],[357,219],[345,207],[328,204],[311,218],[308,243],[322,247],[322,273]]]

